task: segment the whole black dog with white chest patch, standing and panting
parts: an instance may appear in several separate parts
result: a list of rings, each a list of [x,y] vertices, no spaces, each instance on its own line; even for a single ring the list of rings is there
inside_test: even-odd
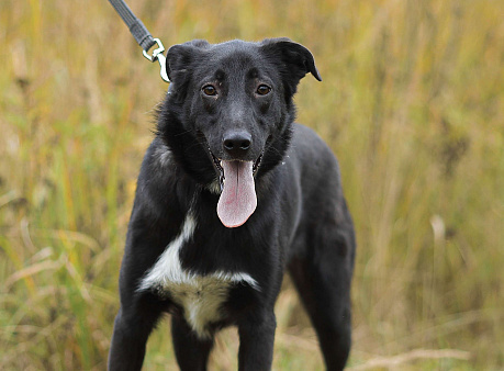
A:
[[[138,370],[164,312],[182,370],[204,370],[214,334],[238,327],[239,369],[269,370],[273,306],[289,270],[327,369],[350,350],[351,217],[336,158],[293,124],[312,54],[287,38],[167,55],[172,86],[141,173],[121,268],[111,370]]]

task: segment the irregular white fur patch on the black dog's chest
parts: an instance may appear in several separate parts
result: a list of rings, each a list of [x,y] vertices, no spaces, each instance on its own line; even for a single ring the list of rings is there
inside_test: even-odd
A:
[[[198,336],[209,337],[208,325],[223,319],[221,305],[227,299],[232,285],[248,283],[259,290],[257,281],[247,273],[216,271],[208,276],[182,269],[180,250],[195,228],[195,220],[189,212],[182,231],[165,249],[153,268],[142,280],[138,291],[156,289],[166,292],[183,308],[184,317]]]

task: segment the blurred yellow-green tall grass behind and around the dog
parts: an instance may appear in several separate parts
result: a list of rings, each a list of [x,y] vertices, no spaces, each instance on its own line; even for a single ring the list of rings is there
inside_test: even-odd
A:
[[[504,368],[504,2],[131,0],[165,45],[289,36],[354,214],[354,369]],[[0,2],[0,369],[102,370],[167,85],[108,1]],[[275,369],[321,370],[287,280]],[[219,336],[214,370],[236,368]],[[145,368],[173,369],[169,328]]]

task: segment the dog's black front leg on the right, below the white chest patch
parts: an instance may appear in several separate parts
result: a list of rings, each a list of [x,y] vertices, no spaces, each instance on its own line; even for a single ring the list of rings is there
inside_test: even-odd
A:
[[[273,342],[277,319],[272,310],[266,313],[254,313],[238,324],[240,371],[271,370]]]

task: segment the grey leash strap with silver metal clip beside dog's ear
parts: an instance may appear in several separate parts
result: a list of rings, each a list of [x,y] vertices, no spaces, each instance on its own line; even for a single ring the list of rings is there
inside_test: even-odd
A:
[[[150,61],[159,61],[161,67],[160,75],[163,80],[170,82],[168,79],[168,74],[166,72],[166,57],[163,54],[165,47],[159,38],[154,38],[150,33],[147,31],[147,27],[142,23],[139,19],[133,14],[132,10],[123,0],[109,0],[109,2],[114,7],[115,11],[121,15],[124,23],[126,23],[130,32],[133,37],[135,37],[138,45],[144,49],[143,54]],[[154,49],[153,54],[149,55],[148,50],[157,44],[157,48]]]

